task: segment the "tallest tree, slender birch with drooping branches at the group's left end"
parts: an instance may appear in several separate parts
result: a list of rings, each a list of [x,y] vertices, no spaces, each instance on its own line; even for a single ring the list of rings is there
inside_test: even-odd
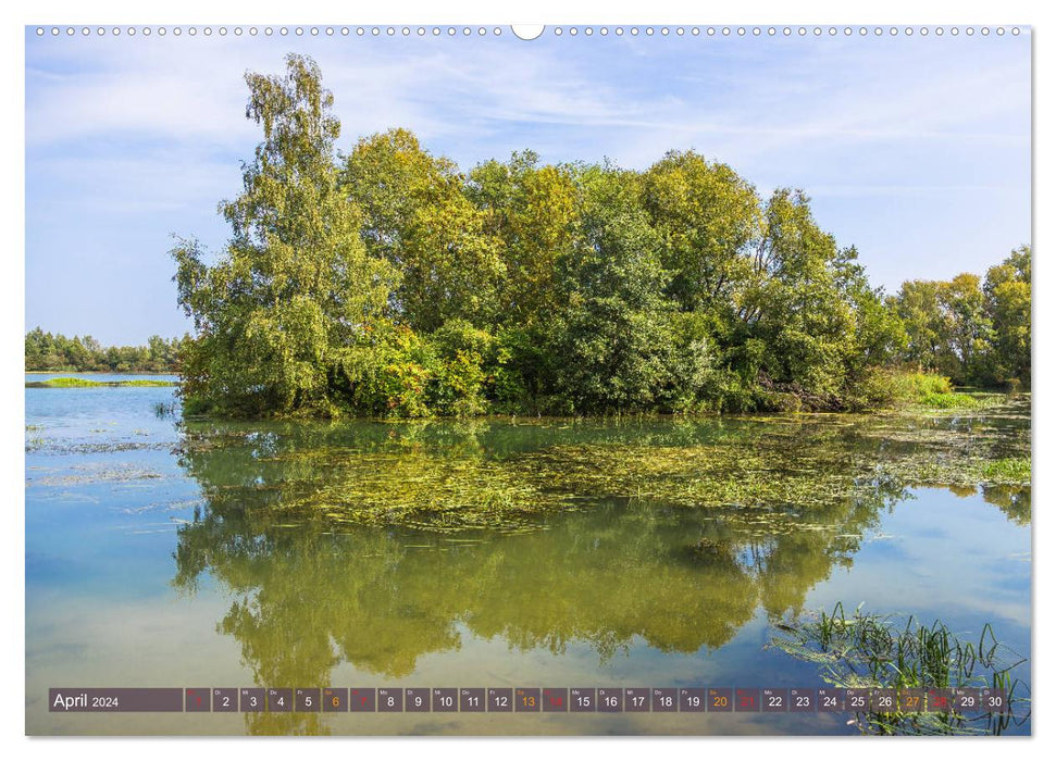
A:
[[[182,391],[231,412],[326,412],[328,377],[383,316],[396,278],[368,254],[361,214],[339,190],[340,125],[314,61],[290,54],[284,76],[250,72],[246,84],[263,141],[241,195],[221,204],[231,240],[213,265],[197,241],[172,251],[197,329]]]

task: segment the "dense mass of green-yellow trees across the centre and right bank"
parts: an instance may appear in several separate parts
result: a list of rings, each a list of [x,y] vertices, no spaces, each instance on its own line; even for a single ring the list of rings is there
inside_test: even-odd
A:
[[[885,299],[800,190],[761,197],[694,151],[463,174],[393,129],[337,154],[318,66],[286,63],[246,76],[263,141],[226,248],[173,250],[188,411],[861,409],[902,362],[1029,382],[1029,249],[983,287]]]

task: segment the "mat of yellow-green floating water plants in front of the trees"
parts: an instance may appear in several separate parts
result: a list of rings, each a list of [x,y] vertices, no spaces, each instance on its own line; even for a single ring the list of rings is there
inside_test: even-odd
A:
[[[550,420],[531,424],[531,446],[522,437],[508,450],[504,437],[524,426],[494,420],[285,422],[266,431],[207,423],[188,428],[182,453],[196,475],[222,463],[258,475],[222,487],[207,478],[211,499],[266,492],[270,509],[338,524],[511,529],[583,499],[614,497],[744,510],[746,520],[769,524],[791,511],[790,525],[798,525],[878,488],[1029,488],[1030,441],[1016,409],[970,420],[909,413],[678,425]]]

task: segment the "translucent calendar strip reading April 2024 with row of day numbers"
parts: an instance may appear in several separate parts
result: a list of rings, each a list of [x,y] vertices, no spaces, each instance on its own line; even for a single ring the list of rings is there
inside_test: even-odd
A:
[[[52,687],[58,713],[1006,713],[990,688]]]

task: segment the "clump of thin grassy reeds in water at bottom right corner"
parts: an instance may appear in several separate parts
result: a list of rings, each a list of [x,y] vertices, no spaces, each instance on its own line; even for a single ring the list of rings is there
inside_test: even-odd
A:
[[[843,603],[836,603],[831,614],[820,611],[778,628],[783,634],[767,647],[818,664],[822,678],[835,687],[991,687],[1008,697],[1006,713],[858,712],[855,722],[864,734],[1001,734],[1010,722],[1021,723],[1030,715],[1030,698],[1021,695],[1024,686],[1011,675],[1026,658],[1003,645],[990,624],[978,643],[967,641],[941,621],[928,626],[909,616],[900,624],[894,616],[860,609],[847,616]]]

